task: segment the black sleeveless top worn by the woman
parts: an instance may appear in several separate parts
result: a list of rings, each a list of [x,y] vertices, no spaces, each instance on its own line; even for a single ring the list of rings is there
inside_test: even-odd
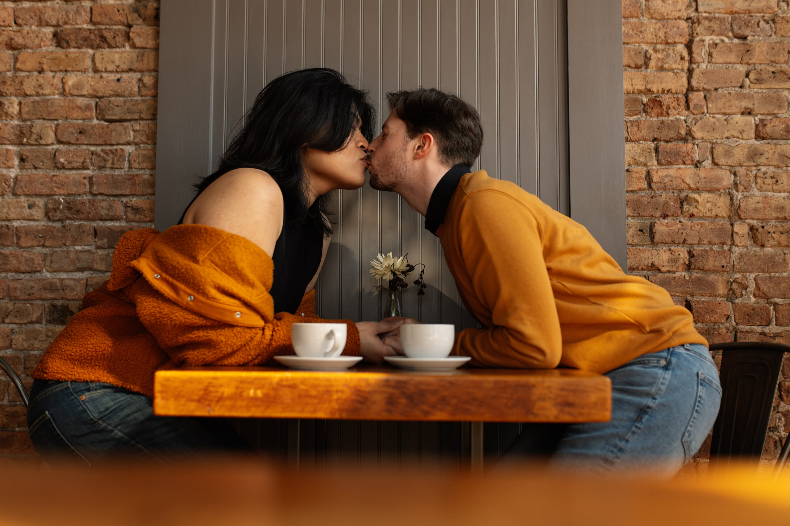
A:
[[[198,196],[194,196],[186,205],[179,225]],[[321,213],[318,211],[318,203],[310,207],[310,213]],[[272,255],[274,278],[269,291],[274,298],[275,312],[296,313],[307,285],[310,285],[313,276],[318,272],[323,244],[323,233],[316,231],[313,225],[303,222],[299,226],[292,226],[286,221],[285,215],[283,216],[283,230],[277,238]]]

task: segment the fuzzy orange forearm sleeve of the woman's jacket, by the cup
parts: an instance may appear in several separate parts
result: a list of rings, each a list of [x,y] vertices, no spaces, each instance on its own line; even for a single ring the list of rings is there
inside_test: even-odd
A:
[[[314,291],[303,298],[297,314],[279,312],[262,327],[232,325],[183,308],[142,277],[125,292],[135,305],[137,318],[175,364],[255,365],[264,364],[273,356],[293,354],[292,323],[347,323],[343,353],[359,354],[359,331],[355,323],[321,319],[315,315],[314,308],[308,310],[310,297],[314,305]]]

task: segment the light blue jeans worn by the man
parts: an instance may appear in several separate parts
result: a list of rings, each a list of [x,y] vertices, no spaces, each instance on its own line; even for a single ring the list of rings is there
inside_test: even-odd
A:
[[[554,468],[675,475],[702,446],[719,412],[721,384],[708,349],[670,347],[606,375],[609,422],[527,424],[496,469],[547,456]]]

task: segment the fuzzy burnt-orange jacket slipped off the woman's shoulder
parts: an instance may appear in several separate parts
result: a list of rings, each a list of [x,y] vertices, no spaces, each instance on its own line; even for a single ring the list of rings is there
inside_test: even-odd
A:
[[[293,354],[292,323],[348,324],[344,354],[359,354],[348,320],[315,315],[315,291],[296,314],[275,315],[274,265],[258,245],[203,225],[131,230],[110,278],[49,346],[36,379],[107,382],[153,396],[153,374],[176,365],[263,364]]]

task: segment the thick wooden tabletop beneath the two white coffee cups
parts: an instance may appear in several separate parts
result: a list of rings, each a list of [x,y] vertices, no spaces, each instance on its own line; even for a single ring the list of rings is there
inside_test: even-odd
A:
[[[154,412],[163,416],[603,422],[611,416],[611,382],[604,375],[575,369],[164,368],[154,378]]]

